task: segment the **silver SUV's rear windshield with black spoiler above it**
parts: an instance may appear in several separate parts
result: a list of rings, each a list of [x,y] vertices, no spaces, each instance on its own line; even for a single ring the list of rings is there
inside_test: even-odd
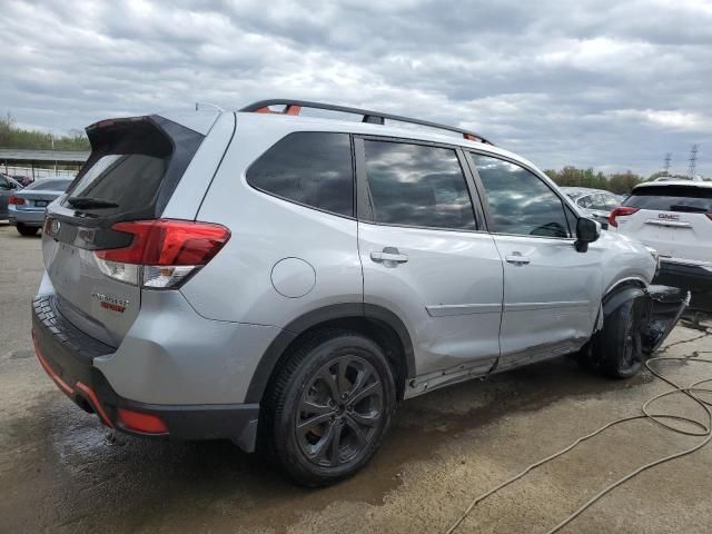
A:
[[[89,128],[91,157],[62,204],[101,217],[157,216],[204,137],[157,119],[122,119]]]

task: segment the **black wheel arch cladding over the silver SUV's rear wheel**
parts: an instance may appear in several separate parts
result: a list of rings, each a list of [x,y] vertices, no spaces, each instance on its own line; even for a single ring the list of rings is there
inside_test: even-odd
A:
[[[306,336],[319,329],[335,327],[358,332],[373,338],[384,349],[394,370],[398,398],[403,398],[405,382],[416,373],[413,343],[405,324],[396,314],[382,306],[343,303],[308,312],[279,333],[259,360],[245,402],[261,402],[280,362]]]

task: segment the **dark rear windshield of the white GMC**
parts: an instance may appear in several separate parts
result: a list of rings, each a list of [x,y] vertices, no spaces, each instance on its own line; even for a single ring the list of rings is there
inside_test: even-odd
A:
[[[694,186],[639,187],[623,202],[640,209],[712,214],[712,188]]]

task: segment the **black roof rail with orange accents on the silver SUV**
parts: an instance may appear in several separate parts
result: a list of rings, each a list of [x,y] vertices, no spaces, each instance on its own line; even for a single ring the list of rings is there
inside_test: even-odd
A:
[[[273,111],[269,109],[270,106],[284,106],[285,109],[284,111]],[[299,115],[301,108],[326,109],[328,111],[340,111],[344,113],[360,115],[362,122],[369,122],[373,125],[383,125],[385,123],[385,119],[389,119],[397,120],[399,122],[408,122],[412,125],[427,126],[428,128],[436,128],[438,130],[447,130],[454,131],[456,134],[462,134],[462,136],[469,141],[479,141],[487,145],[493,145],[487,139],[478,134],[475,134],[474,131],[463,130],[462,128],[456,128],[454,126],[441,125],[438,122],[431,122],[428,120],[413,119],[411,117],[402,117],[399,115],[383,113],[380,111],[370,111],[368,109],[349,108],[347,106],[335,106],[332,103],[310,102],[308,100],[288,100],[279,98],[260,100],[258,102],[253,102],[248,106],[245,106],[239,111],[253,113]]]

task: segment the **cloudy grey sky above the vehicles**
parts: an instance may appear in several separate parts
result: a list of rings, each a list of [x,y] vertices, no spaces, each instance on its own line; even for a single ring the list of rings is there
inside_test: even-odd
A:
[[[540,167],[712,176],[712,0],[0,0],[0,113],[65,132],[271,97],[473,128]]]

